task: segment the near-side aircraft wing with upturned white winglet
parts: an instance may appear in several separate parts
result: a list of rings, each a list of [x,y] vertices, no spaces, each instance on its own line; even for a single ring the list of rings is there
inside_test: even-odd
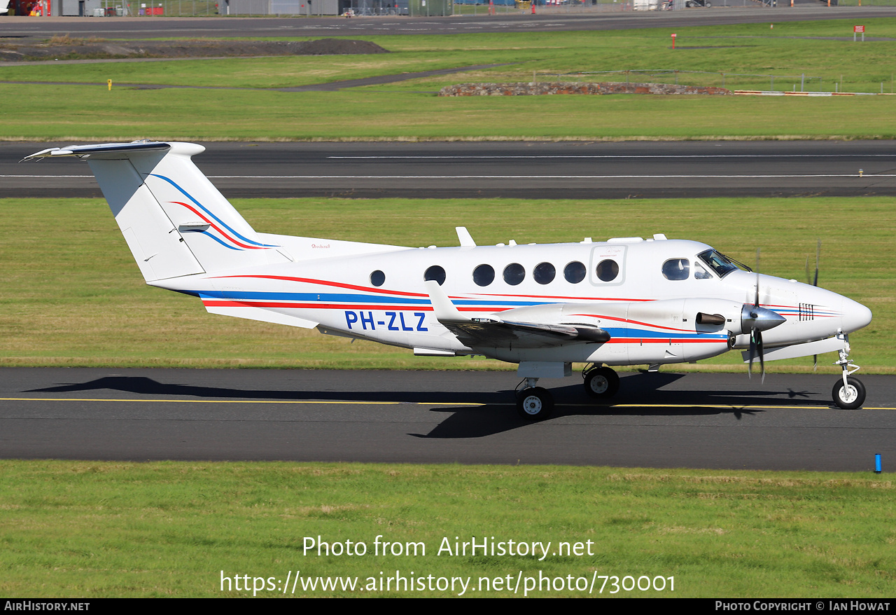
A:
[[[607,342],[610,334],[587,324],[548,324],[504,320],[499,318],[470,318],[463,316],[444,294],[438,282],[426,282],[435,317],[454,333],[465,346],[494,347],[513,344],[516,347],[541,348],[569,342]],[[511,310],[513,311],[513,310]]]

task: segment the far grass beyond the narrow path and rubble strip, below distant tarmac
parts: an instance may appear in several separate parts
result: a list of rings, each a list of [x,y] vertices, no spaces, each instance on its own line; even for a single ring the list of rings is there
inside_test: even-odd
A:
[[[237,87],[289,87],[452,66],[513,63],[483,72],[515,81],[538,74],[575,71],[676,69],[712,74],[801,74],[822,76],[833,90],[843,76],[847,91],[878,91],[896,70],[896,25],[891,19],[862,20],[866,36],[892,40],[852,42],[854,20],[668,27],[643,30],[524,32],[495,34],[360,36],[388,56],[296,56],[151,63],[4,67],[15,81],[167,83]],[[840,39],[831,39],[840,38]],[[295,39],[295,38],[294,38]],[[303,40],[303,38],[297,38]],[[454,75],[422,83],[457,82]],[[767,80],[762,81],[767,83]],[[735,82],[731,82],[735,85]],[[788,84],[789,85],[789,84]],[[877,85],[877,88],[873,88]],[[394,88],[395,86],[389,86]],[[870,89],[869,89],[870,88]],[[788,87],[789,89],[789,87]]]

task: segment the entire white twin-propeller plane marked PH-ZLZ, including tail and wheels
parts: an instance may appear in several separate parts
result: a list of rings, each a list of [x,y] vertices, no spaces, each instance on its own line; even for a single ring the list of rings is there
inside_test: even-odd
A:
[[[830,290],[752,273],[697,241],[400,247],[255,231],[196,168],[193,143],[52,148],[25,160],[86,159],[146,282],[202,299],[213,314],[382,342],[426,356],[519,364],[517,407],[546,418],[541,377],[582,372],[609,398],[607,366],[693,362],[732,349],[756,359],[838,351],[833,402],[858,408],[849,333],[871,311]],[[738,266],[739,265],[739,266]]]

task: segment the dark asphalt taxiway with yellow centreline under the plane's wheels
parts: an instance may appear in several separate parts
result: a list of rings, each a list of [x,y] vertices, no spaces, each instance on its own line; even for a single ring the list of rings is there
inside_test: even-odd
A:
[[[0,457],[886,471],[896,377],[862,377],[855,411],[834,379],[631,374],[611,406],[543,379],[556,411],[531,423],[513,372],[3,368]]]

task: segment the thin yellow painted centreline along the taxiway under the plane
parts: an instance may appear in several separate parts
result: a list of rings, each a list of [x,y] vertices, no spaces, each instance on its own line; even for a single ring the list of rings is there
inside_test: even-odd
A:
[[[318,403],[343,405],[418,405],[418,406],[513,406],[514,403],[473,403],[473,402],[352,402],[326,400],[215,400],[215,399],[110,399],[107,397],[0,397],[0,402],[141,402],[141,403]],[[733,406],[722,403],[560,403],[573,408],[723,408],[725,410],[818,410],[826,408],[823,403],[815,406]],[[887,406],[863,406],[862,410],[896,410]]]

